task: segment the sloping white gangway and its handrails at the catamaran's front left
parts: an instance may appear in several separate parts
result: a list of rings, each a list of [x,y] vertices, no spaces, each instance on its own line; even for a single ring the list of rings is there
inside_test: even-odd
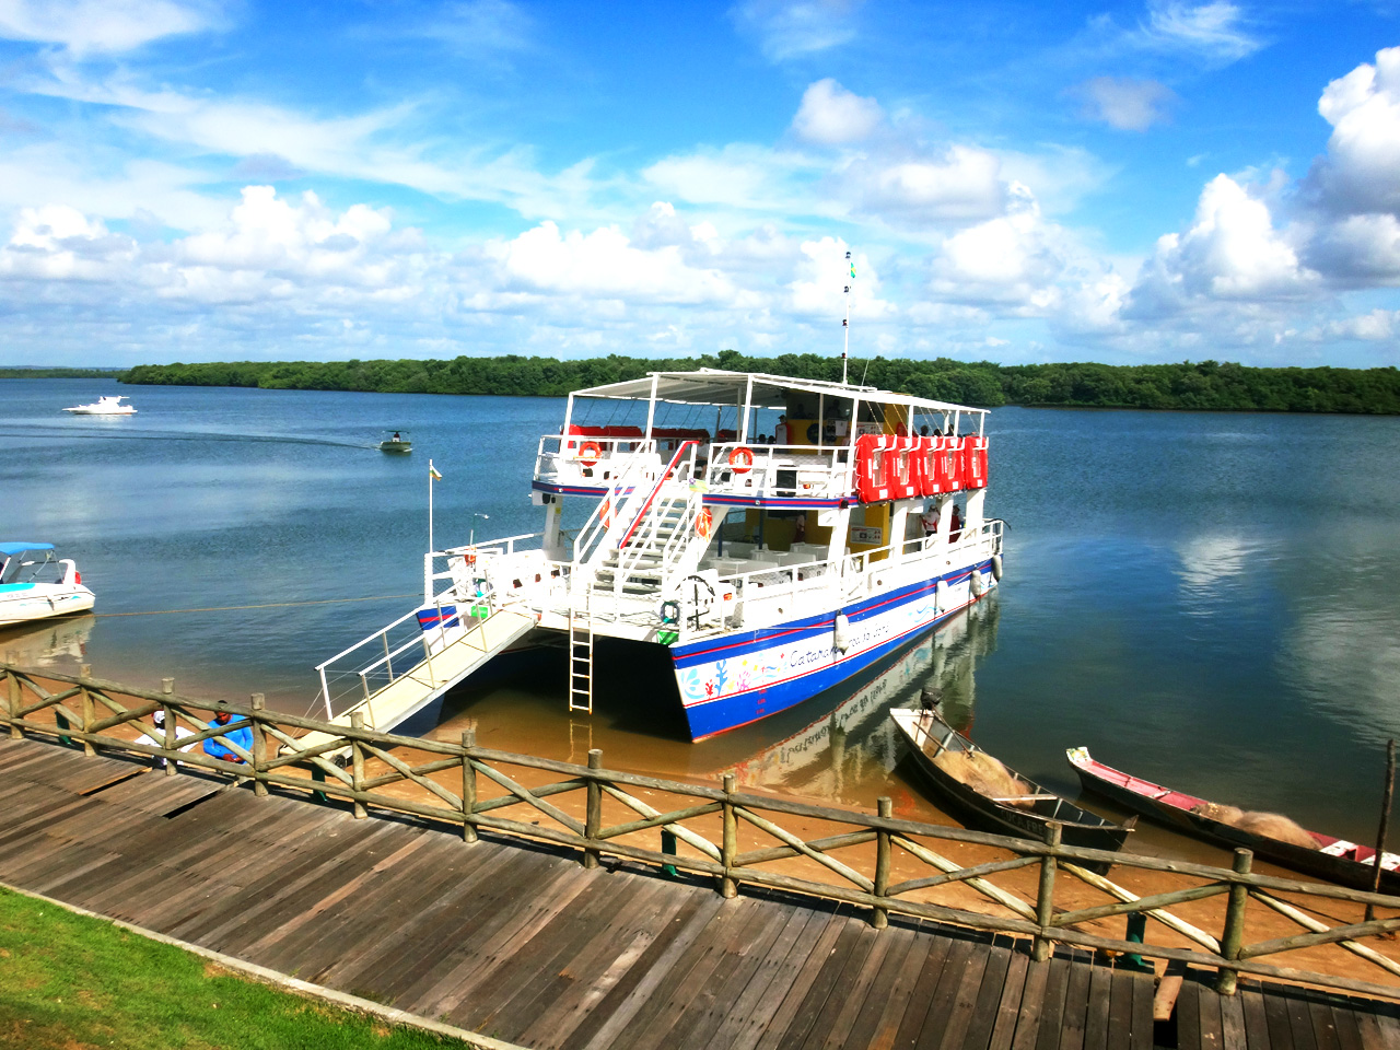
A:
[[[431,630],[421,631],[421,638],[391,650],[389,631],[410,617],[417,624],[417,616],[421,612],[435,615],[438,624]],[[326,715],[332,725],[349,727],[351,718],[360,715],[367,728],[388,732],[421,711],[489,659],[504,652],[536,624],[533,615],[515,609],[494,609],[484,619],[468,619],[465,624],[458,623],[458,616],[459,612],[454,606],[428,605],[414,609],[407,616],[395,620],[388,627],[375,631],[368,638],[319,665],[316,671],[321,672]],[[381,641],[385,655],[354,672],[361,685],[361,697],[343,706],[339,711],[332,710],[326,668]],[[399,657],[402,668],[405,652],[413,652],[413,655],[421,652],[423,659],[395,672],[393,657]],[[368,683],[375,675],[388,680],[378,689],[371,689]],[[336,736],[329,732],[309,732],[300,736],[294,745],[284,745],[284,749],[311,750],[335,739]]]

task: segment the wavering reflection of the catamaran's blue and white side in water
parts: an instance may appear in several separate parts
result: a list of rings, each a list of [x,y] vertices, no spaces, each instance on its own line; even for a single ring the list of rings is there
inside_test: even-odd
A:
[[[973,672],[977,661],[995,648],[998,616],[993,598],[953,617],[878,665],[855,689],[847,683],[813,700],[812,706],[834,701],[822,718],[728,769],[746,787],[843,799],[847,784],[875,770],[883,776],[899,760],[890,708],[917,701],[920,690],[931,686],[945,703],[970,717]]]

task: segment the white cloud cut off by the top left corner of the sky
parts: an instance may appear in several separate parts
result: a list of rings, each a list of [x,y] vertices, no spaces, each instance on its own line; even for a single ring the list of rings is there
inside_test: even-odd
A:
[[[0,0],[0,38],[56,43],[78,57],[223,24],[218,6],[189,0]]]

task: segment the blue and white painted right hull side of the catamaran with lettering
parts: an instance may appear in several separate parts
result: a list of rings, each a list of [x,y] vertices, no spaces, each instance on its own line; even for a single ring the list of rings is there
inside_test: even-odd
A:
[[[836,610],[672,647],[676,686],[690,739],[735,729],[816,696],[977,601],[972,573],[995,585],[991,560],[897,591],[872,595],[841,612],[850,620],[846,652],[834,645]],[[946,608],[937,588],[948,584]]]

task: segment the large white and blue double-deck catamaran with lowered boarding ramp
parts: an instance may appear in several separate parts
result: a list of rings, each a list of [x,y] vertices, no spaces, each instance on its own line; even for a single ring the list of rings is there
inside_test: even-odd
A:
[[[986,416],[713,368],[577,391],[539,442],[542,532],[428,553],[424,603],[319,665],[328,717],[389,728],[550,640],[592,711],[599,637],[664,651],[693,741],[783,711],[997,585]]]

